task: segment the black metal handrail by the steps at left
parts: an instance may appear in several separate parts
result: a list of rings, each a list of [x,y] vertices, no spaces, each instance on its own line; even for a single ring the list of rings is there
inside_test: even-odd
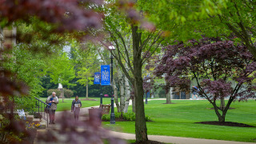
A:
[[[50,105],[47,104],[46,102],[42,102],[42,100],[40,100],[39,98],[35,98],[35,99],[37,100],[36,108],[37,108],[38,116],[41,117],[42,119],[46,120],[47,127],[48,127],[48,114],[46,114],[45,108],[46,108],[46,106],[50,107]]]

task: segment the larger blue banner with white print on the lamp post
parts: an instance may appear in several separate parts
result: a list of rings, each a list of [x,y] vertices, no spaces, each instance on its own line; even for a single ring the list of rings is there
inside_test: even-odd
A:
[[[110,86],[110,65],[101,66],[102,86]]]

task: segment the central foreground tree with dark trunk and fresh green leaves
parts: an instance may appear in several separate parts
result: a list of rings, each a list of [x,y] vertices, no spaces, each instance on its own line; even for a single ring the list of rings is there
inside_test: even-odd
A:
[[[135,4],[138,3],[120,2],[119,4],[121,4],[120,6],[136,6]],[[139,6],[136,8],[140,9]],[[138,24],[141,16],[136,15],[136,11],[132,9],[128,8],[128,10],[125,10],[125,12],[130,14],[130,18],[126,18],[123,14],[117,14],[118,6],[106,6],[105,11],[107,14],[105,26],[106,30],[110,33],[108,42],[112,42],[112,44],[109,43],[105,46],[115,46],[116,50],[111,50],[110,52],[118,61],[123,73],[126,74],[126,78],[134,86],[136,142],[146,142],[148,138],[143,102],[142,68],[152,54],[158,50],[158,46],[160,46],[163,40],[161,37],[162,30],[154,29],[154,26],[148,22]],[[151,31],[146,31],[143,28]],[[126,69],[126,64],[128,69]]]

